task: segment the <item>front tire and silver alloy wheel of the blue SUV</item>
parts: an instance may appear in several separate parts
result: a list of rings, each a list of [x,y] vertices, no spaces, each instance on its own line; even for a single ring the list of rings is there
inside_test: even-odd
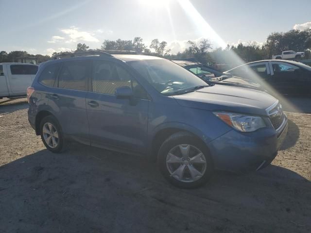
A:
[[[174,133],[163,142],[158,151],[158,166],[164,178],[179,188],[199,187],[214,173],[207,146],[187,132]]]

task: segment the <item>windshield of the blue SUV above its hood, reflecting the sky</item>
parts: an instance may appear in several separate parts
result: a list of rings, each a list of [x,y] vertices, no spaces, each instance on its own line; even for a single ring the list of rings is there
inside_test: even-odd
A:
[[[207,86],[200,78],[169,60],[143,60],[129,64],[159,93],[166,96],[184,94]]]

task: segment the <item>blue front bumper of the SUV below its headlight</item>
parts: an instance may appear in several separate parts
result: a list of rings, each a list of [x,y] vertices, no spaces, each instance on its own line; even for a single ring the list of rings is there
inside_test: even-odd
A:
[[[259,170],[274,160],[287,130],[286,119],[277,132],[273,128],[252,133],[232,130],[209,142],[207,146],[216,169],[234,172]]]

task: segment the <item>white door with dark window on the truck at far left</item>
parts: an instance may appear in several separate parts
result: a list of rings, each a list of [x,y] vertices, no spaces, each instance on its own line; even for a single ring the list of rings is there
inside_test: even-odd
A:
[[[38,66],[26,64],[11,64],[8,67],[9,85],[12,95],[25,95],[27,87],[31,86],[38,71]]]

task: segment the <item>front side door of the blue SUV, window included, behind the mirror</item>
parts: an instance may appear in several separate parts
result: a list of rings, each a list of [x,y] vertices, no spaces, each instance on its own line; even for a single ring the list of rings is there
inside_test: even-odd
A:
[[[149,101],[145,90],[121,63],[94,61],[86,108],[91,145],[144,152]],[[118,99],[115,89],[132,88],[134,98]]]

